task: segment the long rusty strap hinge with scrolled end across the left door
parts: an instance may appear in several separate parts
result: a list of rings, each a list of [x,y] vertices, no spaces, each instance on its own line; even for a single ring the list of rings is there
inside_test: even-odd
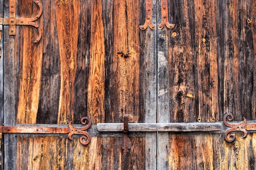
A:
[[[76,128],[72,126],[72,121],[69,122],[68,127],[41,127],[41,126],[0,126],[0,133],[58,133],[67,134],[68,138],[72,140],[72,135],[83,135],[80,137],[80,142],[83,145],[87,145],[91,141],[91,136],[87,130],[90,128],[92,121],[89,117],[82,117],[81,124],[86,125],[84,127]]]

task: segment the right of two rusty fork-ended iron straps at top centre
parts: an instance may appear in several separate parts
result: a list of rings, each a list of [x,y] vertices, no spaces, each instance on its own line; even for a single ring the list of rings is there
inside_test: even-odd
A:
[[[167,0],[161,0],[161,24],[158,26],[158,29],[163,29],[164,26],[168,29],[173,29],[175,24],[170,24],[168,20],[168,2]]]

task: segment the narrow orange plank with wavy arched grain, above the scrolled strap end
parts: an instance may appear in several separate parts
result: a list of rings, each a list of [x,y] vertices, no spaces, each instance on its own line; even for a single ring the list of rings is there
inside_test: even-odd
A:
[[[104,27],[101,0],[91,2],[91,48],[88,83],[88,116],[92,124],[103,122],[104,114]]]

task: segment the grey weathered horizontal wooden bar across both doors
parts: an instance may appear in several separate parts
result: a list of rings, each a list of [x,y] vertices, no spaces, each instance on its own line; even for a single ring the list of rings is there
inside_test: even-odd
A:
[[[99,132],[119,132],[124,130],[122,123],[97,124]],[[211,132],[221,131],[222,123],[130,123],[130,132]]]

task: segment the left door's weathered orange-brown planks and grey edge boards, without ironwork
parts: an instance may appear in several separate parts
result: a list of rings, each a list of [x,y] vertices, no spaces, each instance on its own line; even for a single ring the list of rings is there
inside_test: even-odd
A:
[[[145,1],[40,3],[40,42],[34,43],[38,32],[32,26],[16,26],[16,36],[4,26],[4,125],[81,124],[84,116],[92,124],[119,123],[124,114],[130,123],[156,123],[156,33],[138,29]],[[33,0],[16,3],[17,18],[38,11]],[[6,168],[156,169],[156,134],[129,135],[127,157],[122,133],[92,135],[87,146],[76,136],[5,134]]]

